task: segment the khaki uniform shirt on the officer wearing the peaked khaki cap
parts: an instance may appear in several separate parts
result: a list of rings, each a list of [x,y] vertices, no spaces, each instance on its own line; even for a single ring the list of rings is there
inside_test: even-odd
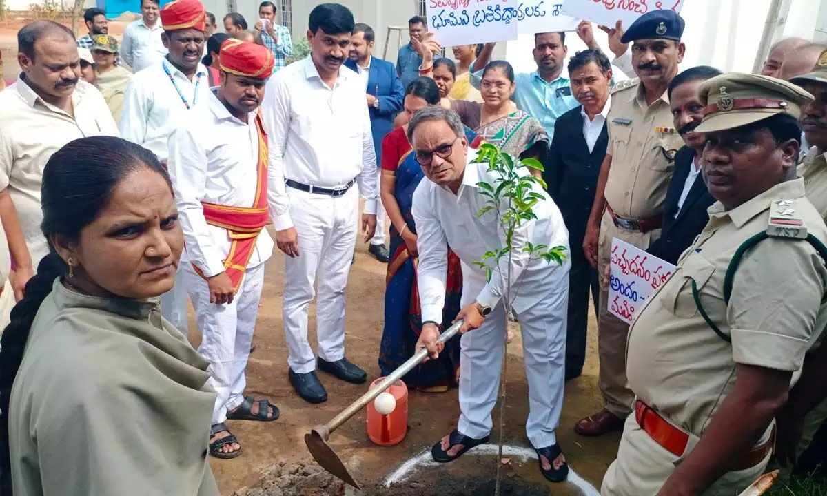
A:
[[[792,207],[775,202],[794,200]],[[676,427],[700,436],[735,382],[735,365],[796,372],[827,323],[827,268],[804,240],[770,237],[743,256],[729,305],[724,273],[735,250],[767,230],[770,209],[792,208],[822,243],[827,227],[795,179],[729,212],[710,207],[710,222],[686,250],[676,272],[653,294],[629,330],[626,360],[637,397]],[[724,341],[700,316],[692,281]]]

